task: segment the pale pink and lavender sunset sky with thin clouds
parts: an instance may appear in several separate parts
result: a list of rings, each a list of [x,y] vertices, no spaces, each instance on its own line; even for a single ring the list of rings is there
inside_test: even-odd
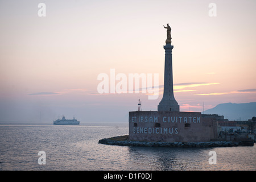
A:
[[[167,23],[180,111],[256,102],[255,9],[255,0],[0,1],[0,121],[128,122],[138,99],[142,110],[157,110]],[[158,74],[158,99],[99,93],[97,78],[111,69]]]

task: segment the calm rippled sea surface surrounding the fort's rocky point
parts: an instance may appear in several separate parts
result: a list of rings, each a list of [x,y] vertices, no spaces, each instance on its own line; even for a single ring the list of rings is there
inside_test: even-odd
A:
[[[164,148],[98,144],[128,134],[128,123],[0,124],[0,170],[256,170],[250,147]],[[39,151],[46,164],[39,165]],[[209,164],[216,151],[217,164]]]

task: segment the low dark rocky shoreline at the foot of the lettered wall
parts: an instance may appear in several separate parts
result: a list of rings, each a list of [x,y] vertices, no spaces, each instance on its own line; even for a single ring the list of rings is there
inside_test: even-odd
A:
[[[140,142],[128,139],[128,135],[100,139],[98,143],[117,145],[117,146],[134,146],[134,147],[237,147],[251,146],[242,141],[213,141],[213,142]],[[253,144],[252,144],[253,145]]]

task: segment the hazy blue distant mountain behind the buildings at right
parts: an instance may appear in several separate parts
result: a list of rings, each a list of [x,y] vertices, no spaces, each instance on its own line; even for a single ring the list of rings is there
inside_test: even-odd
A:
[[[256,117],[256,102],[234,104],[225,103],[218,104],[212,109],[204,111],[204,114],[224,115],[225,119],[247,121],[252,117]]]

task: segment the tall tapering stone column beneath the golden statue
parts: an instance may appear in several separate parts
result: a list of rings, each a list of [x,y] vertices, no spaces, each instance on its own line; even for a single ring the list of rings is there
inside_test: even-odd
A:
[[[174,98],[174,83],[172,78],[172,49],[170,41],[166,40],[165,64],[164,64],[164,93],[158,105],[158,111],[180,111],[180,106]]]

